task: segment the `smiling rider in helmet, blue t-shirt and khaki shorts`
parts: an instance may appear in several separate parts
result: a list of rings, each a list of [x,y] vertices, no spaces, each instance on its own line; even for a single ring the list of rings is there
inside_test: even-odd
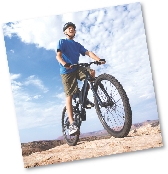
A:
[[[85,78],[85,74],[80,68],[72,68],[72,64],[77,64],[80,54],[89,56],[95,61],[101,61],[93,52],[88,51],[80,43],[74,41],[76,26],[72,22],[68,22],[63,27],[63,32],[66,35],[66,39],[60,39],[57,46],[56,59],[60,65],[60,74],[62,77],[62,83],[66,95],[66,109],[70,122],[69,135],[79,133],[79,129],[73,119],[72,108],[72,96],[78,92],[77,79],[82,80]],[[95,71],[90,70],[90,74],[95,77]],[[88,101],[89,102],[89,101]]]

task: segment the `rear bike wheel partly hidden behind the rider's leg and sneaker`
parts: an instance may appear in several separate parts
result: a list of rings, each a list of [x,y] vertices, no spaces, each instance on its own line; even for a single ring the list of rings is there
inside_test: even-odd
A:
[[[73,114],[75,115],[75,114]],[[69,127],[70,123],[68,120],[68,115],[66,114],[66,107],[63,108],[62,111],[62,133],[64,136],[65,141],[67,142],[67,144],[69,146],[75,146],[77,144],[77,142],[79,141],[79,135],[74,135],[74,136],[70,136],[68,133],[68,127]]]

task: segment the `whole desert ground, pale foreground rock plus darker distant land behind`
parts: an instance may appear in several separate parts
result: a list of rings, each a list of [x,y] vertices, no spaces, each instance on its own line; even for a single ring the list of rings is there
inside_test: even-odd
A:
[[[162,146],[158,120],[148,120],[132,125],[128,136],[124,138],[111,137],[103,130],[92,133],[90,136],[89,134],[81,135],[76,146],[69,146],[61,137],[57,140],[36,141],[21,145],[25,168]]]

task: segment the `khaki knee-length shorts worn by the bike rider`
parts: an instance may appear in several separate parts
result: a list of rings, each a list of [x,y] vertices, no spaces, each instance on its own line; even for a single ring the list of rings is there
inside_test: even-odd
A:
[[[76,71],[73,71],[69,74],[61,74],[62,83],[64,86],[64,92],[66,97],[71,96],[78,92],[78,82],[77,80],[84,80],[86,75],[83,73],[83,70],[87,69],[89,72],[92,71],[90,68],[79,67]]]

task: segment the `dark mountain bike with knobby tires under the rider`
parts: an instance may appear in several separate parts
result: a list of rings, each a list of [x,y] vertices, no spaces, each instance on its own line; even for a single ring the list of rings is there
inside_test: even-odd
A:
[[[91,64],[100,65],[98,61],[90,63],[79,63],[73,66],[89,67]],[[84,70],[86,78],[80,92],[73,95],[73,117],[78,128],[83,121],[86,121],[86,100],[88,95],[88,85],[93,92],[94,107],[98,118],[104,129],[115,138],[123,138],[128,135],[132,125],[132,110],[129,98],[120,82],[110,74],[101,74],[93,78],[88,69]],[[62,112],[62,132],[64,139],[70,146],[75,146],[79,141],[79,134],[70,136],[68,133],[69,119],[66,107]]]

